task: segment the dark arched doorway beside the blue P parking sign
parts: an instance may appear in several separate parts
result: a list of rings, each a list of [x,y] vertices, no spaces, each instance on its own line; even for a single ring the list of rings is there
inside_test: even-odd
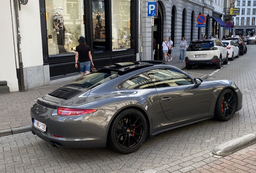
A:
[[[158,16],[155,16],[154,26],[153,26],[153,38],[156,41],[156,49],[154,54],[154,60],[162,60],[162,42],[163,42],[163,14],[162,8],[158,5]]]

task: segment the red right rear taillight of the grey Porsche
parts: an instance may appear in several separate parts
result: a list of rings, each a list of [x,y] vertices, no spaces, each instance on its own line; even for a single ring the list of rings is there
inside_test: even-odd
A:
[[[58,115],[81,115],[81,114],[87,114],[87,113],[94,113],[97,109],[72,109],[72,108],[64,108],[64,107],[58,107],[57,114]]]

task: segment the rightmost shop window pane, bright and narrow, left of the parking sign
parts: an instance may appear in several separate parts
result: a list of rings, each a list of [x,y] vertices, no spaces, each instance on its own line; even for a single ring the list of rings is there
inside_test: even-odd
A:
[[[112,49],[130,48],[130,0],[111,0],[112,10]]]

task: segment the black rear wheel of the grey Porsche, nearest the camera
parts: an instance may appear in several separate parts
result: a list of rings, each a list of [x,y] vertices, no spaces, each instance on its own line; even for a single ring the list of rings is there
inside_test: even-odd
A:
[[[137,109],[126,109],[111,123],[108,147],[120,153],[137,151],[147,138],[148,125],[144,115]]]

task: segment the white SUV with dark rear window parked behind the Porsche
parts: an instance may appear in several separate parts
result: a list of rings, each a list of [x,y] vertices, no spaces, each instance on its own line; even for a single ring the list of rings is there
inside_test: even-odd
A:
[[[185,62],[187,69],[197,64],[215,64],[220,69],[221,62],[228,62],[227,48],[219,39],[193,40],[187,48]]]

